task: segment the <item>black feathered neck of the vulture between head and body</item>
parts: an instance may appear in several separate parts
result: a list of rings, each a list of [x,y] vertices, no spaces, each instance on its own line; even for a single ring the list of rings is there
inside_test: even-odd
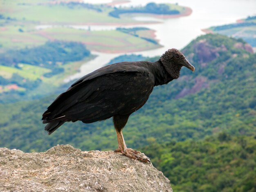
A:
[[[154,86],[167,84],[174,79],[168,74],[160,60],[152,63],[150,68],[152,69],[152,73],[155,76]]]

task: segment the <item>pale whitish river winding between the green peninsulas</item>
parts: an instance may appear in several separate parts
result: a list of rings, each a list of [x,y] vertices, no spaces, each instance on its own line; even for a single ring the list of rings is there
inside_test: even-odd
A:
[[[106,3],[108,0],[84,0],[89,3]],[[152,0],[131,0],[127,4],[120,6],[136,6],[145,5]],[[256,0],[154,0],[156,3],[177,3],[179,5],[190,7],[193,12],[190,16],[170,19],[160,19],[162,23],[151,25],[139,25],[148,27],[156,31],[156,38],[163,47],[159,49],[138,51],[134,54],[142,54],[143,56],[160,56],[170,48],[182,49],[191,40],[204,34],[201,29],[206,29],[212,26],[225,25],[234,23],[236,20],[246,18],[247,16],[256,15]],[[119,6],[119,5],[118,5]],[[136,20],[150,20],[149,17],[135,17]],[[152,18],[155,20],[155,18]],[[136,25],[138,26],[138,25]],[[85,28],[88,26],[73,26],[74,28]],[[111,30],[116,27],[127,26],[90,26],[91,30]],[[128,26],[134,27],[134,26]],[[122,54],[106,54],[92,52],[98,57],[90,60],[81,67],[81,71],[69,78],[65,82],[79,78],[88,74],[99,67],[106,65],[112,58]],[[125,54],[125,53],[123,53]],[[129,53],[131,54],[131,53]]]

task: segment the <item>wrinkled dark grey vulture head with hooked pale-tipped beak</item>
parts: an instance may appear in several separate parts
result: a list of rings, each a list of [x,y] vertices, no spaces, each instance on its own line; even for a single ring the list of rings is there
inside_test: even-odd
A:
[[[173,78],[177,79],[180,76],[182,66],[187,67],[191,71],[195,71],[195,67],[186,60],[182,52],[177,49],[168,49],[160,58],[164,68]]]

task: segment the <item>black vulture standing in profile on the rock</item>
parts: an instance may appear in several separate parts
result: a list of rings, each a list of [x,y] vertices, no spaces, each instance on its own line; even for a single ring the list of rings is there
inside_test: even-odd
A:
[[[94,123],[112,118],[118,148],[131,159],[150,162],[137,150],[127,148],[122,129],[129,116],[148,100],[155,86],[179,78],[182,67],[195,71],[184,54],[168,49],[156,62],[121,62],[101,67],[73,83],[43,113],[45,130],[52,134],[65,122]]]

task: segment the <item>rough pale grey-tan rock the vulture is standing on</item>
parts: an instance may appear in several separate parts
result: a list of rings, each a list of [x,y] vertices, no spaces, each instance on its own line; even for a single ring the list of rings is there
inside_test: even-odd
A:
[[[0,191],[172,192],[150,163],[113,151],[57,145],[43,153],[0,148]]]

